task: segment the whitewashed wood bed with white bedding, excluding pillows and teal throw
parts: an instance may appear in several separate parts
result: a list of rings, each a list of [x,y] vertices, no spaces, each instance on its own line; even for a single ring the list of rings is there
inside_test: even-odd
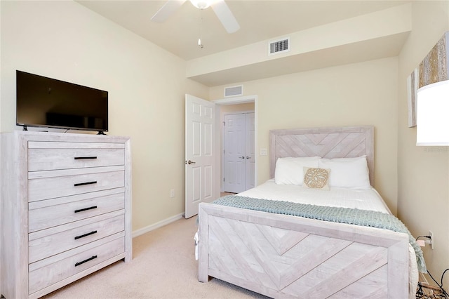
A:
[[[279,171],[280,161],[294,158],[320,157],[319,161],[324,163],[364,157],[369,169],[366,180],[368,185],[374,185],[373,126],[272,130],[269,154],[273,179],[232,199],[257,200],[255,206],[260,206],[259,201],[262,204],[267,201],[264,199],[269,197],[267,192],[272,192],[274,197],[269,201],[282,203],[286,197],[292,197],[291,190],[286,189],[297,186],[276,183],[281,178],[276,173],[276,163]],[[330,178],[335,178],[332,171]],[[286,189],[276,190],[276,187],[283,188],[282,185]],[[365,191],[377,194],[370,186]],[[301,187],[311,194],[327,194],[325,190]],[[338,189],[347,192],[346,187],[330,185],[330,190]],[[321,197],[323,202],[332,202],[326,199],[327,195]],[[369,215],[382,213],[387,217],[391,213],[381,198],[379,202],[368,208],[373,210]],[[345,208],[363,209],[357,202],[353,204]],[[309,202],[305,205],[309,206]],[[410,234],[267,211],[272,210],[257,211],[257,208],[217,202],[199,205],[199,281],[207,282],[209,277],[215,277],[272,298],[415,296],[417,257],[420,256],[416,251],[420,249],[410,245]],[[423,267],[424,262],[420,260],[420,263]]]

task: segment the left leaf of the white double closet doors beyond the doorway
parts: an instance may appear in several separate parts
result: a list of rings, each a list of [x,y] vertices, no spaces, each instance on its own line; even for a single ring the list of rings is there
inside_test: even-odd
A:
[[[225,115],[224,191],[245,190],[246,117],[245,114]]]

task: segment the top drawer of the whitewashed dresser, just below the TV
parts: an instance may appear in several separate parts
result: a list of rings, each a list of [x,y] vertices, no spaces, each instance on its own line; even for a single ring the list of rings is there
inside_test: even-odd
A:
[[[31,142],[30,142],[31,143]],[[33,142],[42,143],[42,142]],[[53,169],[86,168],[114,166],[125,164],[125,149],[121,148],[86,148],[90,143],[46,142],[62,147],[81,148],[30,148],[28,149],[28,171],[47,171]],[[96,144],[94,144],[96,145]],[[115,145],[115,144],[112,144]],[[117,145],[118,146],[118,145]]]

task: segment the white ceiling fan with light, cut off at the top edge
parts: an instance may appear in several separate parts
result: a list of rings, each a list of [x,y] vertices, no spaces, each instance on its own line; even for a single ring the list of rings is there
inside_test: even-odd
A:
[[[185,1],[187,0],[168,0],[166,4],[159,8],[159,11],[153,15],[152,21],[164,22],[170,15],[175,13],[177,8],[180,8]],[[240,29],[239,22],[237,22],[225,0],[190,0],[190,2],[199,9],[206,9],[210,6],[228,33],[233,33]]]

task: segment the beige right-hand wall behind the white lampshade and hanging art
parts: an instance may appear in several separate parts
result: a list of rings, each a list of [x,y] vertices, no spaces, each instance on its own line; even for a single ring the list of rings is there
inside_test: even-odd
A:
[[[448,30],[449,1],[413,1],[413,32],[398,56],[398,216],[415,236],[434,233],[434,250],[426,246],[423,251],[438,282],[449,267],[449,147],[415,145],[416,127],[408,128],[406,79]],[[448,285],[446,273],[446,290]]]

